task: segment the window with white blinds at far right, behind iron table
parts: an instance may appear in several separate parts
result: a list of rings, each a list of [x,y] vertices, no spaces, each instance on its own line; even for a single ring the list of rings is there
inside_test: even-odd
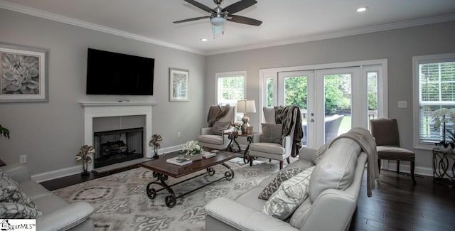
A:
[[[425,55],[413,58],[414,65],[414,102],[417,112],[416,146],[441,141],[442,129],[434,128],[433,112],[446,108],[455,111],[455,53]],[[450,120],[454,120],[451,118]],[[415,125],[415,124],[414,124]],[[454,124],[446,127],[453,131]]]

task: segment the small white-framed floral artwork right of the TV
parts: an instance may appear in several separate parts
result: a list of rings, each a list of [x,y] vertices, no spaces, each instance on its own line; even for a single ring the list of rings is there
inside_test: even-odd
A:
[[[188,70],[169,68],[169,101],[189,101]]]

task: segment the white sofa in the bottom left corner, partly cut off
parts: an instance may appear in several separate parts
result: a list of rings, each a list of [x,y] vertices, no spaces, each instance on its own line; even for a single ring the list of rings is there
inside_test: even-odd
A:
[[[28,168],[22,164],[9,164],[0,168],[11,179],[19,183],[19,190],[25,193],[43,215],[36,218],[36,230],[94,230],[90,215],[93,207],[89,203],[69,204],[62,198],[31,180]]]

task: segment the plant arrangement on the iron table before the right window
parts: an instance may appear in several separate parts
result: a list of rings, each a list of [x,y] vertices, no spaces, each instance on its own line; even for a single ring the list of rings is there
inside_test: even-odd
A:
[[[452,149],[454,148],[455,134],[446,128],[446,123],[453,119],[455,119],[455,112],[451,109],[441,108],[433,112],[434,130],[440,129],[442,124],[442,140],[436,144],[437,146],[447,148],[450,145]],[[446,132],[449,133],[449,139],[451,139],[449,142],[446,141]]]

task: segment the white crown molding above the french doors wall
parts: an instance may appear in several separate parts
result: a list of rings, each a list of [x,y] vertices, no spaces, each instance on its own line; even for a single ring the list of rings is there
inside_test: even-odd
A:
[[[432,23],[444,23],[447,21],[455,21],[455,14],[446,14],[443,16],[436,16],[436,17],[432,17],[432,18],[419,18],[416,20],[402,21],[402,22],[398,22],[398,23],[388,23],[388,24],[383,24],[383,25],[379,25],[379,26],[370,26],[370,27],[366,27],[366,28],[358,28],[358,29],[347,30],[347,31],[338,31],[338,32],[334,32],[334,33],[323,33],[323,34],[319,34],[316,36],[305,36],[304,38],[298,38],[298,39],[287,40],[287,41],[261,43],[259,45],[244,46],[241,48],[215,50],[215,51],[211,51],[211,52],[206,52],[205,55],[207,55],[207,56],[208,55],[219,55],[219,54],[223,54],[223,53],[232,53],[232,52],[243,51],[243,50],[255,50],[255,49],[259,49],[259,48],[269,48],[269,47],[274,47],[274,46],[278,46],[278,45],[290,45],[290,44],[305,43],[305,42],[310,42],[310,41],[319,41],[319,40],[330,39],[330,38],[341,38],[341,37],[347,37],[347,36],[360,35],[363,33],[390,31],[390,30],[394,30],[394,29],[407,28],[407,27],[412,27],[412,26],[423,26],[423,25],[432,24]]]

